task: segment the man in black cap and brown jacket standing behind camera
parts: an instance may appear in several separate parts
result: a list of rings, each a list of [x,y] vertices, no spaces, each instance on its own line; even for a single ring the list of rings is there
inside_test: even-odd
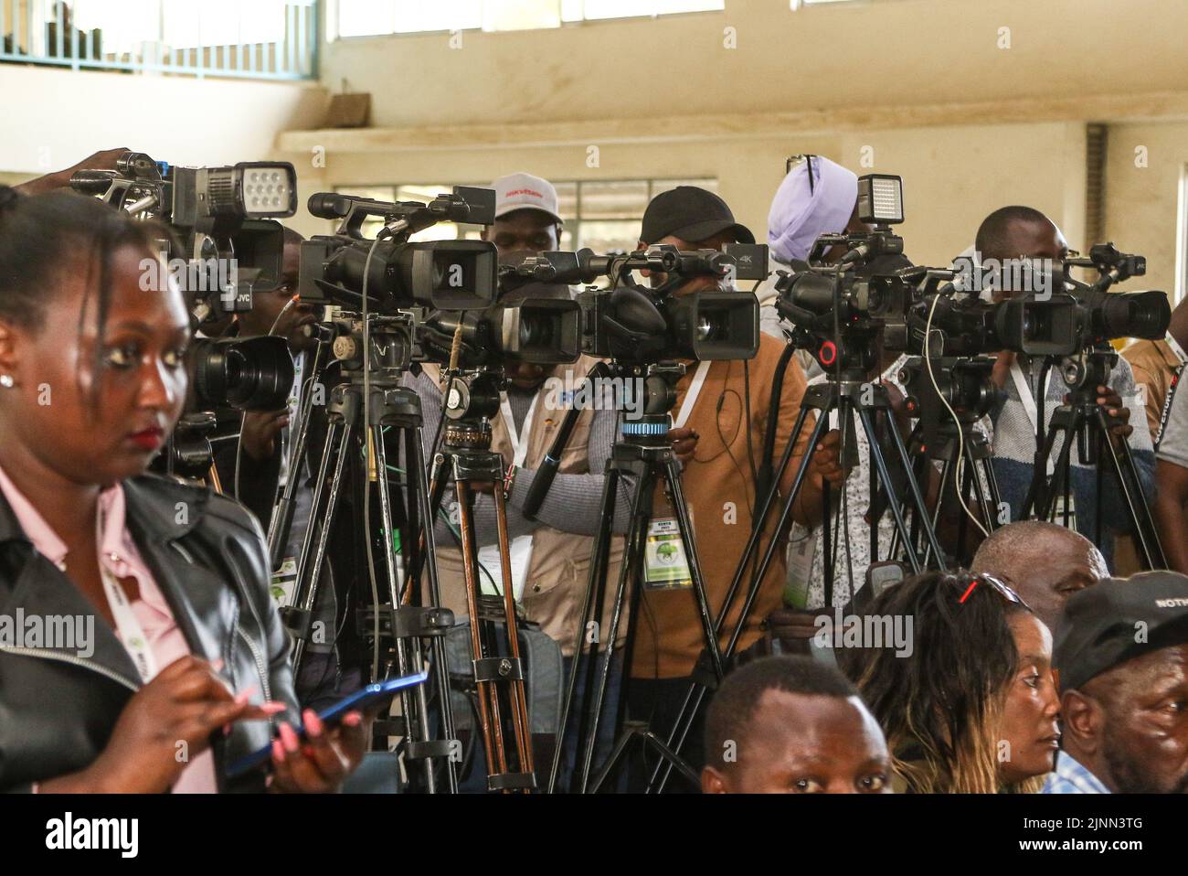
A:
[[[661,193],[644,213],[640,248],[671,244],[682,251],[718,250],[727,242],[753,244],[754,235],[734,221],[722,198],[704,189],[682,185]],[[661,285],[664,278],[653,275],[651,282]],[[714,285],[713,278],[697,277],[674,295],[688,295]],[[784,377],[778,421],[767,423],[771,386],[783,349],[784,345],[775,338],[760,334],[759,351],[752,361],[687,361],[688,371],[676,385],[676,427],[668,437],[684,466],[685,499],[715,618],[752,525],[757,448],[763,446],[765,430],[775,428],[778,459],[783,453],[782,442],[790,439],[800,411],[804,373],[792,361]],[[838,456],[836,431],[827,434],[816,448],[808,448],[807,441],[805,431],[802,446],[794,452],[784,480],[778,485],[786,496],[800,459],[811,449],[813,465],[792,510],[794,518],[800,522],[810,522],[820,513],[823,483],[838,484],[845,477]],[[653,509],[662,506],[663,498],[657,497]],[[658,510],[653,512],[659,513]],[[767,540],[781,535],[773,530],[775,517],[766,532]],[[759,639],[765,618],[779,605],[784,578],[784,559],[782,552],[776,552],[747,619],[748,629],[739,641],[740,650]],[[671,730],[704,641],[689,587],[645,588],[643,603],[636,629],[628,711],[633,719],[649,720],[651,730],[663,737]],[[735,603],[735,612],[740,607],[741,603]],[[737,613],[725,620],[723,638],[737,623]],[[702,752],[700,737],[700,727],[694,727],[684,749],[695,760],[700,760]]]

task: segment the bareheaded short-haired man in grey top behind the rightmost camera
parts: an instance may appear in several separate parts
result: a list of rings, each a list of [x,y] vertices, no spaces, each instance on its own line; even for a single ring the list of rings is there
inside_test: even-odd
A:
[[[977,250],[982,263],[996,259],[1003,265],[1017,264],[1020,259],[1061,261],[1068,256],[1068,244],[1060,229],[1043,213],[1030,207],[1003,207],[991,213],[978,228]],[[996,301],[1003,301],[1009,295],[1003,290],[994,291]],[[994,428],[993,466],[1001,498],[1011,506],[1011,519],[1018,519],[1032,480],[1038,414],[1035,395],[1041,364],[1038,359],[1001,351],[993,370],[994,383],[1006,393],[1005,402],[991,412]],[[1143,491],[1146,496],[1151,496],[1155,454],[1145,417],[1139,417],[1137,423],[1131,422],[1127,404],[1133,404],[1136,391],[1130,363],[1119,358],[1110,383],[1111,386],[1097,387],[1097,402],[1112,422],[1110,428],[1112,440],[1130,442]],[[1044,423],[1045,430],[1064,395],[1066,389],[1059,374],[1050,374],[1044,391],[1044,412],[1048,420]],[[1054,448],[1054,460],[1059,449]],[[1098,472],[1083,465],[1075,452],[1070,460],[1075,528],[1086,537],[1093,538],[1097,531]],[[1110,522],[1130,519],[1120,497],[1121,491],[1117,489],[1106,489],[1101,496],[1101,513],[1106,523],[1105,531],[1110,532],[1110,537],[1104,538],[1105,543],[1098,547],[1111,568],[1113,568],[1114,548],[1112,536],[1120,530],[1111,527]],[[1063,515],[1057,512],[1056,519],[1063,521]]]

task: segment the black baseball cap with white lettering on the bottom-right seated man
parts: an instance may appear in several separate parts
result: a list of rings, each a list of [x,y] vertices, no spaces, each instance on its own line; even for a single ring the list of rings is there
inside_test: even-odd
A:
[[[1053,666],[1060,672],[1061,689],[1068,691],[1127,660],[1186,642],[1188,575],[1142,572],[1107,578],[1064,603]]]

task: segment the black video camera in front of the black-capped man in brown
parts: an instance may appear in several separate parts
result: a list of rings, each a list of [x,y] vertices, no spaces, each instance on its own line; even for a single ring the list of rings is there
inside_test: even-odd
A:
[[[663,276],[652,288],[631,277],[646,270]],[[590,250],[542,252],[505,266],[510,288],[532,281],[590,284],[600,277],[608,289],[589,288],[576,297],[581,351],[619,363],[653,364],[668,359],[751,359],[759,348],[759,303],[739,291],[674,291],[694,277],[718,281],[763,279],[767,247],[728,244],[726,251],[681,252],[653,245],[626,254],[596,256]]]

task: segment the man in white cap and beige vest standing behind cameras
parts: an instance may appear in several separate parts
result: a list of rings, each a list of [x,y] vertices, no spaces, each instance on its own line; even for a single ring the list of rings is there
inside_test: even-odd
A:
[[[557,250],[561,244],[561,216],[552,184],[529,174],[512,174],[492,184],[495,189],[495,222],[484,231],[484,239],[494,242],[503,264],[517,264],[524,257]],[[565,288],[552,286],[552,294],[569,297]],[[512,303],[519,297],[537,296],[532,288],[517,290],[500,297],[500,303]],[[596,360],[582,357],[573,365],[541,366],[531,363],[506,364],[510,380],[501,393],[501,411],[492,420],[492,449],[504,456],[510,474],[505,484],[508,541],[512,552],[513,586],[520,591],[518,599],[524,616],[536,622],[561,648],[568,675],[574,660],[574,642],[581,619],[581,597],[586,592],[594,536],[599,531],[602,474],[615,439],[615,411],[609,404],[596,410],[583,410],[562,455],[558,474],[535,519],[523,513],[536,471],[544,460],[557,429],[564,418],[564,404],[554,407],[557,393],[550,383],[573,385],[581,380]],[[405,376],[405,385],[416,390],[424,414],[423,434],[425,454],[431,459],[428,442],[437,434],[442,416],[442,392],[438,384],[441,370],[432,364],[422,367],[417,376]],[[563,398],[563,396],[561,397]],[[456,530],[456,502],[447,490],[442,519],[435,522],[437,571],[442,601],[456,616],[467,613],[462,553]],[[630,490],[620,490],[614,515],[614,531],[623,534],[631,518]],[[494,500],[479,494],[474,506],[475,535],[480,549],[492,550],[495,542]],[[485,554],[486,554],[485,552]],[[614,581],[623,561],[624,538],[612,540],[609,580]],[[480,556],[480,576],[487,584],[499,579],[500,569],[494,557]],[[516,568],[522,572],[517,575]],[[503,582],[500,582],[501,585]],[[501,591],[500,591],[501,592]],[[428,599],[428,594],[426,594]],[[609,629],[613,606],[607,601],[600,629]],[[620,625],[621,645],[626,631]],[[621,682],[621,660],[617,660],[611,675],[608,713],[599,735],[602,750],[613,743],[614,704]],[[573,739],[571,739],[573,740]],[[481,757],[481,752],[479,755]],[[567,761],[571,755],[567,755]],[[564,779],[562,779],[562,787]]]

